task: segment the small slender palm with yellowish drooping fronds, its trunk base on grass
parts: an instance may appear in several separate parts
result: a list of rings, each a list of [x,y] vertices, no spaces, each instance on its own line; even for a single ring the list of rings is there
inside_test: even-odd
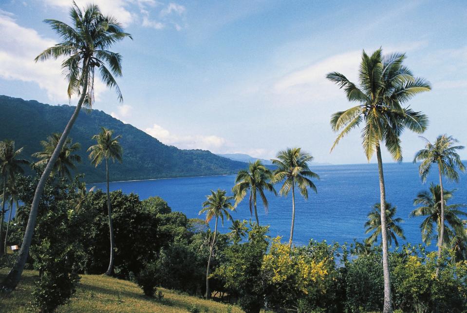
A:
[[[233,199],[232,196],[226,196],[225,190],[218,189],[216,192],[211,190],[211,194],[206,196],[206,201],[203,202],[203,209],[200,211],[201,214],[206,214],[206,223],[208,223],[213,217],[216,217],[216,224],[214,226],[214,235],[212,237],[211,245],[209,248],[209,258],[207,259],[207,270],[206,270],[206,294],[205,298],[210,299],[211,293],[209,292],[209,271],[211,265],[212,250],[216,244],[216,235],[217,235],[217,222],[219,216],[222,220],[222,225],[224,226],[224,216],[227,220],[232,219],[232,216],[229,213],[230,211],[235,210],[235,208],[230,203],[230,200]]]

